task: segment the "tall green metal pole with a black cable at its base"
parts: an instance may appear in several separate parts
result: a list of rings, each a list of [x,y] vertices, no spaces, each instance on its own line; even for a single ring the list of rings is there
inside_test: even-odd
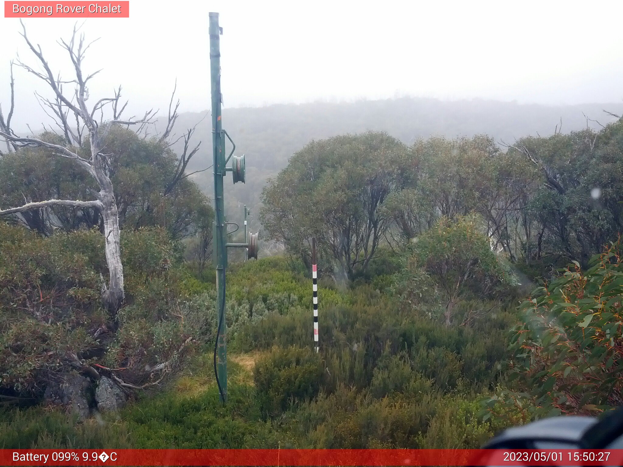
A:
[[[214,259],[216,261],[218,335],[214,349],[219,397],[227,402],[227,339],[225,321],[225,270],[227,268],[227,225],[223,202],[225,171],[224,139],[221,121],[221,28],[219,14],[211,12],[210,18],[210,75],[212,93],[212,156],[214,158]]]

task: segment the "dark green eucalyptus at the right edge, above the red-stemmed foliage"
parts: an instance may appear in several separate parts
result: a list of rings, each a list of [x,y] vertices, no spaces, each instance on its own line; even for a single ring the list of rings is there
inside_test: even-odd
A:
[[[545,138],[522,138],[509,153],[533,167],[526,209],[536,232],[535,259],[583,266],[623,229],[623,121]]]

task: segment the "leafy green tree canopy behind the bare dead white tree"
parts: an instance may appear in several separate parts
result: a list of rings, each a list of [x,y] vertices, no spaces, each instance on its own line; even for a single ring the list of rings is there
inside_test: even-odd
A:
[[[54,142],[52,133],[42,138]],[[158,139],[145,139],[134,131],[114,126],[104,146],[110,152],[107,169],[113,182],[122,229],[163,227],[182,239],[200,229],[211,229],[209,199],[189,179],[182,179],[168,194],[178,156]],[[81,151],[88,151],[88,138]],[[50,149],[22,148],[0,158],[0,205],[12,206],[47,199],[86,199],[95,183],[77,164],[52,157]],[[102,219],[94,208],[52,206],[16,215],[16,222],[50,235],[54,229],[70,232],[98,227]]]

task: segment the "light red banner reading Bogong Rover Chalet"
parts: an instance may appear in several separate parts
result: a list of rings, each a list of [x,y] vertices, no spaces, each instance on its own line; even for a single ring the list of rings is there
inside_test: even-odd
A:
[[[5,18],[129,18],[129,1],[4,1]]]

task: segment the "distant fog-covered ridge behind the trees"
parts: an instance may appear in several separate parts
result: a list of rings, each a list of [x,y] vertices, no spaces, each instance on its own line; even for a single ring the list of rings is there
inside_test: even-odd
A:
[[[243,203],[254,209],[266,179],[275,176],[288,159],[312,139],[366,130],[386,131],[411,145],[417,138],[439,135],[447,138],[488,134],[498,143],[511,144],[524,136],[548,136],[562,121],[563,133],[589,128],[599,130],[616,120],[604,110],[623,113],[623,103],[580,105],[521,105],[489,100],[440,101],[429,98],[397,98],[353,103],[315,102],[280,104],[258,108],[224,108],[223,120],[236,143],[236,153],[246,154],[248,177],[245,187],[229,185],[226,207],[232,219],[239,216]],[[182,113],[177,125],[191,128],[204,113]],[[590,120],[587,120],[589,118]],[[599,123],[596,123],[596,121]],[[196,138],[203,141],[188,169],[211,164],[209,124],[197,126]],[[181,144],[179,142],[178,144]],[[229,146],[228,146],[229,147]],[[179,150],[180,148],[174,148]],[[211,193],[211,171],[197,174],[204,192]],[[251,218],[254,219],[255,211]],[[235,220],[235,219],[234,219]],[[256,221],[257,222],[257,221]]]

